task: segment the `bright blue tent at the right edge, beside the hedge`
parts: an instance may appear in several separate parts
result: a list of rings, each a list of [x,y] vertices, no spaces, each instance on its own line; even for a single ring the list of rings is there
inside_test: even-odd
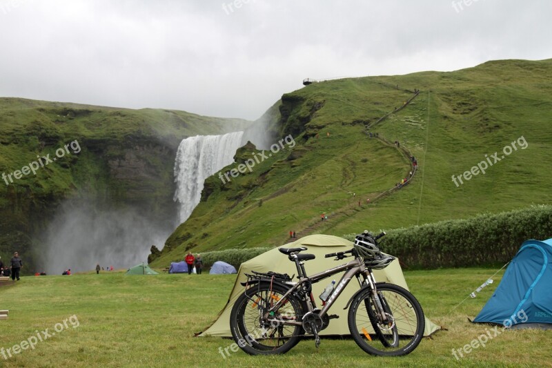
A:
[[[552,327],[551,291],[552,239],[527,240],[473,322],[516,328]]]

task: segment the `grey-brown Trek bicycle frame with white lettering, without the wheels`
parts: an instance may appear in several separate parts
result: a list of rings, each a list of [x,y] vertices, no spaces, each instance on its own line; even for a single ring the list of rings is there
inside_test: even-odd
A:
[[[266,314],[267,316],[268,316],[268,313],[270,313],[271,311],[276,311],[277,309],[279,309],[279,307],[282,306],[282,302],[286,299],[286,297],[289,296],[290,293],[293,293],[299,290],[302,287],[302,284],[304,284],[304,282],[310,281],[311,283],[314,284],[316,282],[324,280],[325,278],[330,277],[331,275],[335,275],[336,273],[339,273],[342,271],[346,271],[346,273],[344,273],[342,278],[337,283],[337,287],[335,287],[333,293],[326,301],[326,304],[324,305],[324,307],[322,307],[322,309],[317,313],[319,317],[322,318],[326,316],[326,314],[328,313],[328,309],[330,309],[333,303],[335,302],[335,300],[339,298],[342,291],[347,287],[348,283],[351,282],[351,279],[353,278],[353,276],[356,276],[357,279],[359,280],[359,275],[364,275],[365,282],[371,286],[371,289],[373,291],[375,291],[375,278],[373,276],[372,270],[367,269],[366,266],[364,266],[364,262],[362,262],[362,259],[360,258],[355,258],[354,260],[351,260],[346,264],[342,264],[341,266],[334,267],[333,269],[328,269],[326,271],[315,273],[314,275],[311,275],[308,277],[305,275],[304,262],[295,260],[295,264],[297,265],[297,271],[299,272],[299,276],[298,276],[299,282],[293,283],[293,287],[291,287],[284,294],[284,296],[282,296],[282,298],[278,300],[278,302],[273,304],[273,306],[270,307],[270,309],[268,309]],[[287,282],[287,284],[291,284],[291,283]],[[359,280],[359,284],[362,287],[362,282],[360,282],[360,280]],[[312,293],[309,296],[309,298],[305,298],[305,300],[307,301],[308,312],[312,312],[316,307],[315,300],[313,300]],[[301,321],[286,320],[281,322],[283,322],[284,325],[302,325]]]

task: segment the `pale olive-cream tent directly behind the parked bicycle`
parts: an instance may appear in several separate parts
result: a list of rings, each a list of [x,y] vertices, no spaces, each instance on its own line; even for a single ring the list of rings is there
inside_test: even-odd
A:
[[[304,238],[298,239],[293,243],[286,244],[285,247],[293,248],[297,246],[306,246],[307,251],[303,253],[312,253],[316,255],[315,260],[308,260],[305,262],[305,270],[308,275],[313,273],[318,273],[325,271],[326,269],[331,269],[332,267],[339,266],[339,264],[344,264],[352,258],[346,258],[345,260],[335,261],[335,258],[324,258],[324,255],[327,253],[334,253],[339,251],[348,251],[353,247],[353,243],[332,235],[308,235]],[[275,271],[279,273],[287,273],[288,275],[297,275],[297,269],[295,268],[295,263],[288,260],[288,257],[278,251],[278,249],[271,249],[257,257],[248,260],[247,262],[242,263],[242,266],[239,267],[237,274],[236,282],[234,288],[230,293],[230,298],[226,307],[219,313],[219,318],[211,325],[206,331],[201,333],[200,336],[221,336],[221,337],[231,337],[230,333],[230,311],[236,301],[236,299],[244,292],[244,287],[240,282],[245,282],[247,280],[244,273],[250,273],[250,271],[258,272],[267,272]],[[339,282],[339,279],[342,277],[342,273],[337,273],[334,275],[336,282]],[[377,282],[389,282],[391,284],[397,284],[405,289],[408,289],[406,286],[406,281],[402,275],[402,269],[400,267],[399,261],[394,260],[388,267],[383,270],[374,271],[374,276]],[[295,278],[297,280],[297,278]],[[321,302],[318,299],[318,296],[322,293],[324,288],[331,282],[332,278],[322,280],[313,284],[313,295],[317,300],[317,306],[321,307]],[[330,325],[321,331],[320,335],[349,335],[349,329],[347,324],[347,313],[348,309],[344,309],[348,300],[353,296],[353,294],[359,289],[359,284],[355,278],[349,282],[346,289],[343,291],[342,295],[335,301],[333,306],[330,308],[329,313],[338,314],[339,318],[331,320]],[[422,305],[422,309],[424,306]],[[439,326],[435,325],[431,320],[426,318],[426,330],[424,331],[424,336],[429,336],[431,333],[440,329]]]

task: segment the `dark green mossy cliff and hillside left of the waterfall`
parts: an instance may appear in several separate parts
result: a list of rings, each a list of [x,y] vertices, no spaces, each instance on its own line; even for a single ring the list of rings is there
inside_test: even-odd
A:
[[[6,261],[18,250],[32,272],[41,238],[68,198],[89,200],[98,211],[133,209],[150,216],[152,224],[172,226],[173,167],[181,139],[248,124],[177,110],[0,98],[0,173],[6,175],[0,179],[0,255]],[[36,175],[9,176],[39,157],[55,158],[70,142],[79,149],[68,148]]]

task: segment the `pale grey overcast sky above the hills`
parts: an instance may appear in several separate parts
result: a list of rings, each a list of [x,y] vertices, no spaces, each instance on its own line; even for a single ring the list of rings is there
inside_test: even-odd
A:
[[[305,77],[552,58],[551,14],[549,0],[0,0],[0,96],[256,119]]]

